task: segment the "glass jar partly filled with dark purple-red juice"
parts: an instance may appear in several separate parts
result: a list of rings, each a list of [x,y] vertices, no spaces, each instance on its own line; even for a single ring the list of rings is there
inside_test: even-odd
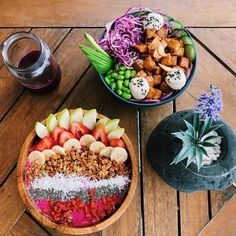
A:
[[[28,32],[10,35],[3,43],[4,64],[26,88],[49,92],[61,80],[61,69],[47,44]]]

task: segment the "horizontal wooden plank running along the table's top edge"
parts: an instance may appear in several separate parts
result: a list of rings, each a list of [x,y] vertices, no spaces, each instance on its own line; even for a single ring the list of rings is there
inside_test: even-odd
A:
[[[235,26],[234,3],[234,0],[175,0],[171,3],[165,0],[25,0],[22,4],[20,0],[1,0],[0,9],[7,10],[1,11],[0,22],[4,27],[101,27],[124,14],[129,7],[141,4],[161,9],[188,26]]]

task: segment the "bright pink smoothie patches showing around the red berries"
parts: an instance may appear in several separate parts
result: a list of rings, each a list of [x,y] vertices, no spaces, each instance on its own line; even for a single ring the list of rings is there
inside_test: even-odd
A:
[[[123,199],[124,199],[124,195],[119,195],[118,200],[113,201],[113,204],[115,206],[118,206],[121,204]],[[96,200],[95,203],[96,203],[97,207],[99,208],[99,210],[102,211],[105,209],[102,200],[100,200],[100,199]],[[38,207],[38,209],[42,212],[42,214],[46,215],[49,219],[51,219],[51,215],[50,215],[51,210],[49,208],[49,200],[42,199],[42,200],[34,201],[34,204]],[[85,205],[88,208],[90,208],[88,203],[85,203]],[[69,213],[69,215],[73,219],[72,226],[74,226],[74,227],[89,226],[89,225],[96,224],[102,220],[102,219],[97,218],[95,216],[86,218],[84,211],[82,209],[79,212],[77,212],[77,211],[71,212],[71,213]]]

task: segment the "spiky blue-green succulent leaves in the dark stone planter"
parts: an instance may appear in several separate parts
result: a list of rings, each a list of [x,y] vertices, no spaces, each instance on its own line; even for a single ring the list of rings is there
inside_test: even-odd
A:
[[[203,155],[208,156],[206,148],[216,146],[210,141],[219,138],[213,131],[222,125],[214,125],[212,118],[202,120],[200,116],[201,114],[194,112],[193,124],[184,120],[187,126],[186,131],[172,133],[176,138],[182,140],[183,146],[171,164],[177,164],[188,159],[186,168],[195,162],[199,171],[202,166]]]

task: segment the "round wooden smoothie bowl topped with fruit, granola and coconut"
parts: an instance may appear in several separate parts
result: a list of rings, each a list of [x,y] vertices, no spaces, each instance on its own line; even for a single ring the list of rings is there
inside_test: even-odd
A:
[[[38,221],[79,235],[103,230],[125,212],[136,189],[138,163],[118,124],[119,119],[81,108],[36,122],[21,149],[17,180]]]

